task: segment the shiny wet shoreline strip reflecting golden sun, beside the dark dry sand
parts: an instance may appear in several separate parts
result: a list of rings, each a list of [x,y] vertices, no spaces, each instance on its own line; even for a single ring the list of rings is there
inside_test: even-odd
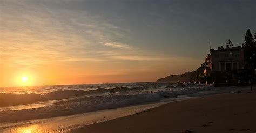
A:
[[[173,100],[176,101],[176,100]],[[158,107],[173,101],[154,102],[122,108],[104,109],[70,116],[59,116],[48,119],[36,119],[14,123],[0,123],[0,132],[68,132],[84,125],[117,119],[133,115],[144,110]]]

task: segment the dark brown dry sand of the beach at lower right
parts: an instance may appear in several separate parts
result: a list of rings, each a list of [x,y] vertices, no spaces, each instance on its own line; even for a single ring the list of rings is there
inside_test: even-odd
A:
[[[256,132],[256,93],[218,94],[86,125],[71,132]],[[188,131],[187,131],[188,132]]]

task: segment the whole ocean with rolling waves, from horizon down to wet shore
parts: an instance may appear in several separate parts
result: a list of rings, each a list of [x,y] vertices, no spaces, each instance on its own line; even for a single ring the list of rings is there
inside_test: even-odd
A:
[[[138,107],[242,89],[245,88],[157,82],[0,88],[0,131],[2,128],[8,132],[12,127],[41,120],[80,117],[80,114],[101,110]],[[129,110],[130,114],[136,113],[131,108]]]

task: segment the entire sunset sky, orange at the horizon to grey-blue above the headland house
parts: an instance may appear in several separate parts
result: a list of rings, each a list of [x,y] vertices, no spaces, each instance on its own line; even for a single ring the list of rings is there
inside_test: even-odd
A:
[[[256,32],[255,0],[0,0],[0,87],[155,81]],[[21,79],[27,77],[29,83]]]

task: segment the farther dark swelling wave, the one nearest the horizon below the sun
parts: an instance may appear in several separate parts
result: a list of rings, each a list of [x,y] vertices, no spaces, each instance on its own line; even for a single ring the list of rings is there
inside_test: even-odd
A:
[[[138,86],[138,87],[114,87],[111,89],[98,88],[96,90],[60,90],[55,92],[50,92],[46,94],[12,94],[12,93],[0,93],[0,107],[5,106],[15,106],[32,104],[37,101],[45,100],[60,100],[80,97],[88,94],[99,94],[105,92],[127,92],[127,91],[140,91],[149,88],[148,86]]]

